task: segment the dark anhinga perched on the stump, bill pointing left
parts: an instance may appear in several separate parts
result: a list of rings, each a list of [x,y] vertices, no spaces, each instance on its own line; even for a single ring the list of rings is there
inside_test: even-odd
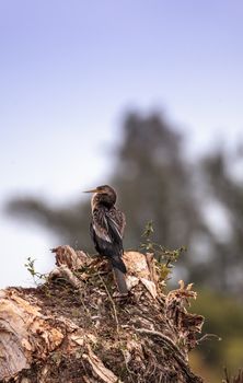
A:
[[[127,270],[121,258],[126,220],[125,214],[115,207],[116,192],[111,186],[104,185],[84,193],[94,193],[91,199],[90,232],[95,249],[109,259],[119,292],[128,293],[125,279]]]

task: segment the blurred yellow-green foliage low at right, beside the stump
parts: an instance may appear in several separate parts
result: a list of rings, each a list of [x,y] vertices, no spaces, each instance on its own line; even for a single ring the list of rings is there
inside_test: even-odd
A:
[[[243,367],[243,304],[232,297],[211,290],[198,291],[192,311],[206,317],[204,333],[216,334],[221,340],[202,341],[197,351],[211,370],[222,378],[223,367],[236,372]]]

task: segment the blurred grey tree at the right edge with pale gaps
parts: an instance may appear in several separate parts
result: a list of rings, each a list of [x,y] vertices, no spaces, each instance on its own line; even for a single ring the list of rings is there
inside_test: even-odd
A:
[[[201,162],[206,196],[221,210],[216,224],[224,225],[224,233],[213,235],[211,243],[211,287],[225,292],[243,290],[243,178],[242,151],[229,152],[223,147],[208,154]],[[240,169],[233,172],[235,167]],[[240,166],[239,166],[240,165]],[[240,175],[240,177],[239,177]],[[213,209],[209,214],[213,214]],[[221,222],[223,221],[223,222]],[[216,278],[217,276],[217,278]],[[215,277],[215,279],[213,279]]]

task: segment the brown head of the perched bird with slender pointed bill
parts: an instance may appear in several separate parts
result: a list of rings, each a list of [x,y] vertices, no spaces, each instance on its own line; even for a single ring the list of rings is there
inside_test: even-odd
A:
[[[113,187],[108,185],[97,186],[95,187],[95,189],[86,190],[83,193],[93,193],[93,197],[91,200],[92,210],[97,205],[104,205],[109,208],[116,202],[116,192]]]

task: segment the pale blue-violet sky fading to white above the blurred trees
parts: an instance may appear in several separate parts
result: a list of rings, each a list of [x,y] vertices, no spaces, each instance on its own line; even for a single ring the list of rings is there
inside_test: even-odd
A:
[[[236,0],[0,1],[0,287],[57,244],[4,201],[105,182],[125,111],[165,111],[194,153],[243,136],[242,20]]]

